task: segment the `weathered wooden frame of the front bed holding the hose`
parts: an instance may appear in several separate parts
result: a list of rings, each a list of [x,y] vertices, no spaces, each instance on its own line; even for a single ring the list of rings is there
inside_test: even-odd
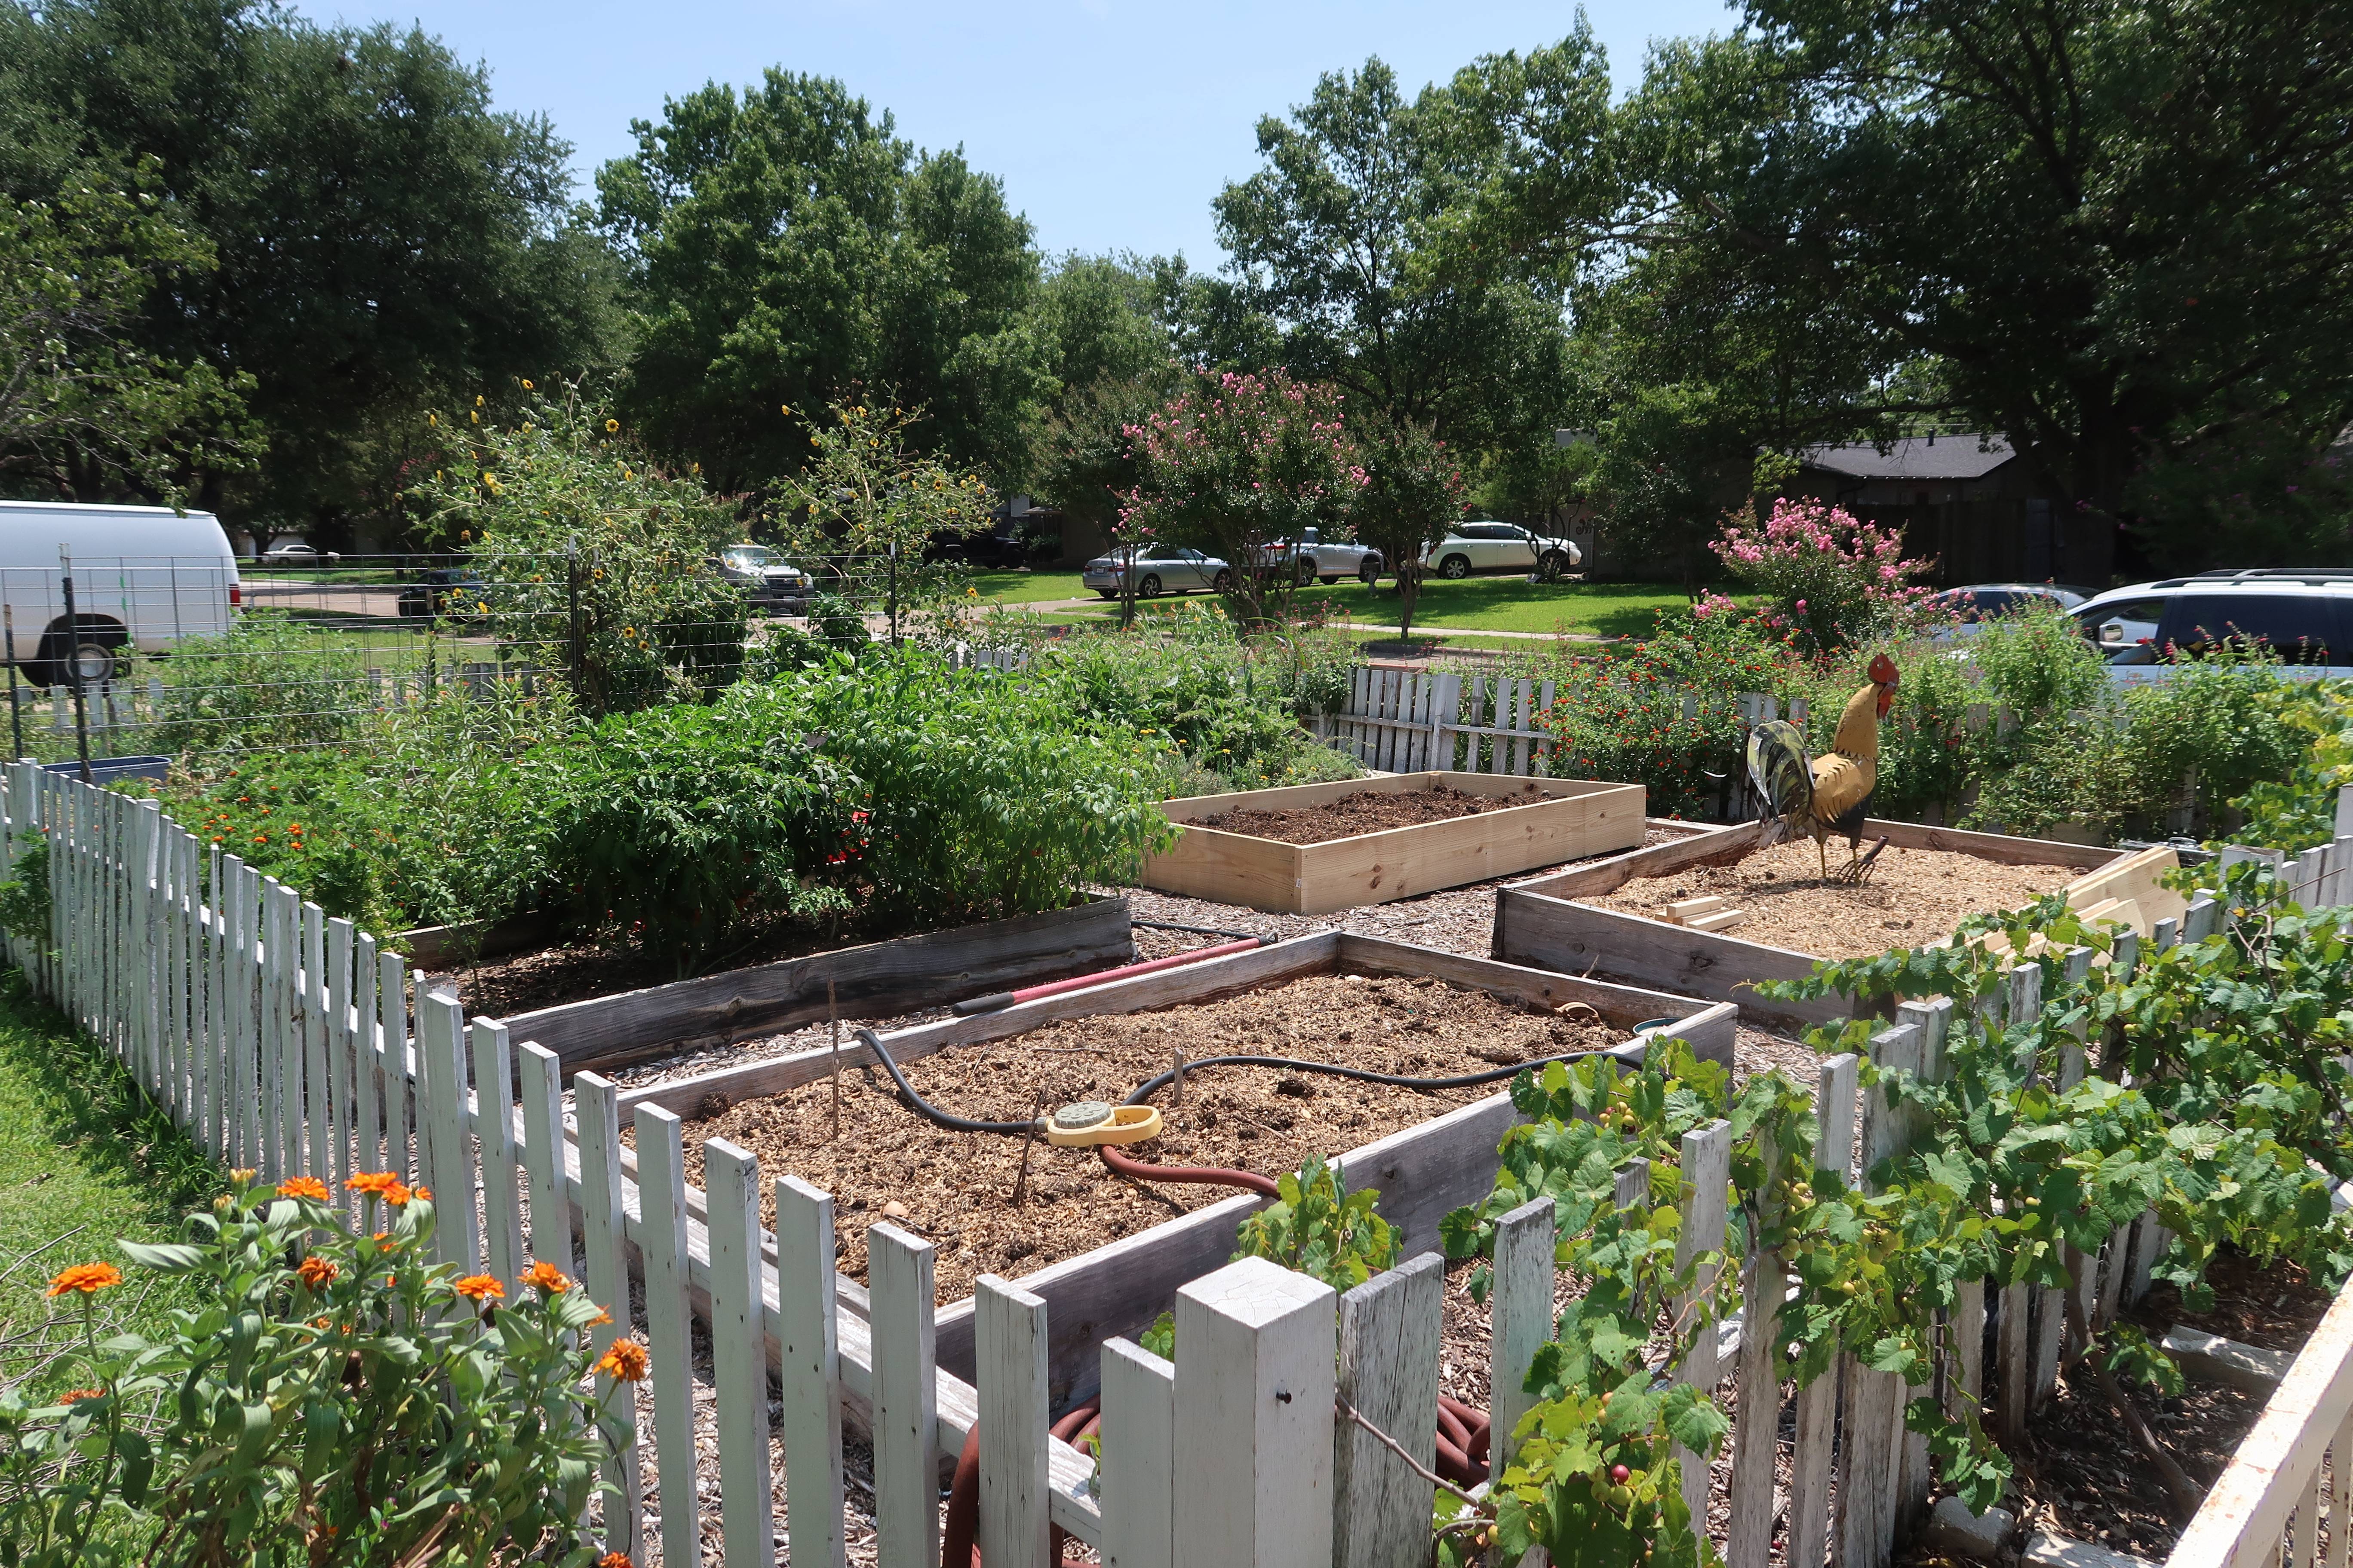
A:
[[[1280,985],[1320,973],[1367,973],[1367,976],[1433,976],[1541,1006],[1584,1001],[1605,1023],[1626,1027],[1638,1023],[1673,1018],[1664,1032],[1692,1041],[1694,1051],[1708,1060],[1732,1063],[1737,1016],[1732,1006],[1666,997],[1626,985],[1579,980],[1492,959],[1468,959],[1433,947],[1412,947],[1384,938],[1320,931],[1257,952],[1240,952],[1226,959],[1205,959],[1184,969],[1172,969],[1132,980],[1113,980],[1059,997],[1042,997],[998,1013],[953,1018],[882,1037],[882,1044],[899,1060],[915,1060],[934,1051],[1007,1039],[1064,1018],[1089,1018],[1111,1013],[1141,1013],[1162,1006],[1214,1001],[1240,992]],[[1638,1048],[1633,1048],[1638,1058]],[[845,1063],[871,1063],[864,1046],[842,1051]],[[729,1100],[748,1100],[781,1093],[824,1077],[833,1067],[828,1051],[746,1063],[715,1072],[652,1084],[624,1091],[619,1114],[626,1124],[638,1105],[661,1105],[678,1114],[694,1114],[706,1095],[720,1093]],[[1379,1138],[1360,1150],[1339,1157],[1348,1190],[1377,1187],[1381,1213],[1402,1232],[1405,1255],[1438,1246],[1438,1222],[1454,1208],[1471,1204],[1494,1187],[1497,1143],[1513,1124],[1508,1093],[1497,1093],[1471,1105],[1449,1107],[1419,1126]],[[1141,1147],[1151,1157],[1151,1145]],[[635,1175],[635,1154],[624,1152],[624,1166]],[[1078,1258],[1066,1258],[1052,1267],[1024,1276],[1019,1284],[1045,1298],[1049,1312],[1049,1382],[1054,1403],[1085,1399],[1099,1378],[1096,1347],[1111,1335],[1134,1335],[1167,1309],[1176,1288],[1191,1279],[1217,1269],[1233,1253],[1235,1227],[1264,1199],[1252,1194],[1195,1208],[1151,1229],[1141,1229],[1120,1241],[1111,1241]],[[701,1192],[687,1194],[687,1211],[699,1222],[704,1218]],[[774,1244],[762,1241],[774,1258]],[[840,1281],[842,1305],[864,1316],[866,1291],[849,1279]],[[939,1309],[939,1363],[958,1375],[972,1375],[974,1302],[967,1298]]]

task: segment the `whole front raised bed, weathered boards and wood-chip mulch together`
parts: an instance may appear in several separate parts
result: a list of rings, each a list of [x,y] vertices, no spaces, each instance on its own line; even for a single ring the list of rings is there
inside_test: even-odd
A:
[[[1355,997],[1358,990],[1365,994]],[[1388,1001],[1377,1001],[1377,994]],[[1560,1016],[1558,1009],[1567,1004],[1584,1009]],[[1162,1025],[1193,1030],[1186,1037],[1193,1058],[1247,1048],[1351,1065],[1353,1058],[1339,1051],[1358,1041],[1320,1039],[1318,1030],[1329,1027],[1337,1037],[1339,1030],[1358,1034],[1369,1025],[1386,1034],[1365,1044],[1367,1065],[1419,1056],[1428,1065],[1407,1065],[1407,1072],[1435,1077],[1501,1065],[1492,1056],[1511,1051],[1548,1056],[1581,1046],[1628,1048],[1633,1025],[1652,1018],[1675,1018],[1671,1032],[1689,1037],[1704,1056],[1729,1063],[1734,1013],[1727,1006],[1379,938],[1315,933],[1000,1013],[899,1030],[885,1037],[885,1046],[896,1060],[913,1063],[911,1081],[925,1093],[936,1088],[960,1114],[995,1119],[1000,1112],[1031,1114],[1033,1084],[1054,1086],[1056,1093],[1087,1093],[1085,1084],[1094,1077],[1092,1093],[1111,1091],[1106,1098],[1122,1098],[1146,1067],[1167,1067],[1172,1032]],[[1226,1037],[1217,1039],[1209,1030],[1224,1030]],[[1073,1046],[1082,1053],[1047,1056]],[[1101,1058],[1094,1056],[1096,1048],[1104,1051]],[[1028,1204],[1012,1211],[1021,1145],[920,1124],[868,1088],[859,1074],[866,1060],[871,1058],[861,1046],[842,1051],[842,1140],[856,1140],[861,1128],[875,1138],[887,1135],[894,1152],[904,1145],[896,1159],[868,1159],[866,1150],[835,1159],[826,1143],[816,1143],[831,1135],[828,1051],[624,1093],[624,1126],[635,1105],[652,1103],[692,1121],[689,1150],[711,1135],[736,1143],[758,1138],[762,1168],[779,1161],[779,1173],[788,1168],[835,1192],[847,1269],[856,1267],[866,1227],[885,1218],[885,1201],[908,1208],[904,1218],[889,1215],[901,1227],[939,1227],[927,1234],[939,1241],[936,1276],[944,1298],[955,1293],[951,1279],[1012,1274],[1031,1265],[1035,1272],[1021,1276],[1021,1286],[1049,1305],[1056,1403],[1092,1392],[1104,1338],[1139,1333],[1169,1305],[1176,1286],[1226,1262],[1235,1225],[1261,1201],[1252,1194],[1224,1197],[1217,1190],[1165,1185],[1155,1185],[1165,1197],[1151,1197],[1111,1178],[1092,1152],[1049,1154],[1040,1145],[1031,1152]],[[1497,1140],[1513,1119],[1506,1084],[1440,1095],[1315,1077],[1308,1095],[1294,1095],[1282,1093],[1282,1077],[1287,1074],[1217,1070],[1188,1079],[1184,1107],[1172,1095],[1160,1095],[1162,1110],[1176,1112],[1176,1133],[1136,1145],[1132,1154],[1174,1161],[1174,1150],[1162,1145],[1186,1143],[1191,1154],[1181,1159],[1195,1164],[1233,1161],[1282,1173],[1301,1154],[1351,1150],[1339,1157],[1346,1185],[1381,1190],[1381,1213],[1402,1229],[1407,1255],[1435,1248],[1438,1222],[1494,1185]],[[960,1093],[969,1098],[953,1098]],[[1209,1112],[1209,1124],[1202,1124],[1200,1112]],[[1292,1117],[1292,1126],[1273,1126],[1273,1114],[1282,1112]],[[1259,1135],[1245,1138],[1245,1124],[1257,1126]],[[925,1164],[925,1152],[934,1145],[936,1152]],[[1052,1201],[1042,1201],[1049,1187]],[[699,1204],[692,1197],[689,1211],[699,1211]],[[991,1211],[991,1204],[998,1208]],[[955,1234],[946,1234],[948,1227]],[[1005,1255],[1031,1239],[1038,1241],[1035,1253]],[[958,1248],[967,1244],[972,1255],[958,1258]],[[1000,1251],[988,1255],[984,1246]],[[1038,1260],[1047,1265],[1035,1267]],[[864,1291],[854,1281],[842,1281],[842,1300],[864,1312]],[[969,1368],[972,1302],[941,1307],[936,1333],[941,1366]]]

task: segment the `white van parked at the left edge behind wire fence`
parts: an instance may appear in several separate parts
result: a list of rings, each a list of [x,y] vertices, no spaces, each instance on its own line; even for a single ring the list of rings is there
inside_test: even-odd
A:
[[[14,649],[0,644],[0,656],[31,684],[61,686],[71,679],[68,658],[82,679],[96,682],[115,670],[122,649],[162,654],[186,637],[224,635],[242,588],[228,534],[212,512],[0,501],[0,602],[14,630]]]

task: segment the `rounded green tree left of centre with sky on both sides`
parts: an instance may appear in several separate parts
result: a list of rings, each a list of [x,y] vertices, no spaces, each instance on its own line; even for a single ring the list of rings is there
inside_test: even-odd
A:
[[[659,444],[765,489],[809,456],[779,407],[896,402],[922,447],[1021,470],[1052,371],[1031,228],[993,176],[774,68],[633,129],[598,195],[638,310],[626,407]]]

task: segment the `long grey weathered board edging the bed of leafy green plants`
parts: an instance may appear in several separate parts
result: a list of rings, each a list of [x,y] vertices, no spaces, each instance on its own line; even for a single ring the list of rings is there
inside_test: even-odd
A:
[[[826,1016],[913,1013],[965,997],[1059,980],[1134,957],[1125,898],[812,952],[675,985],[565,1001],[506,1018],[513,1039],[562,1058],[565,1072],[621,1067],[696,1046],[727,1046]],[[831,990],[831,994],[828,994]]]

